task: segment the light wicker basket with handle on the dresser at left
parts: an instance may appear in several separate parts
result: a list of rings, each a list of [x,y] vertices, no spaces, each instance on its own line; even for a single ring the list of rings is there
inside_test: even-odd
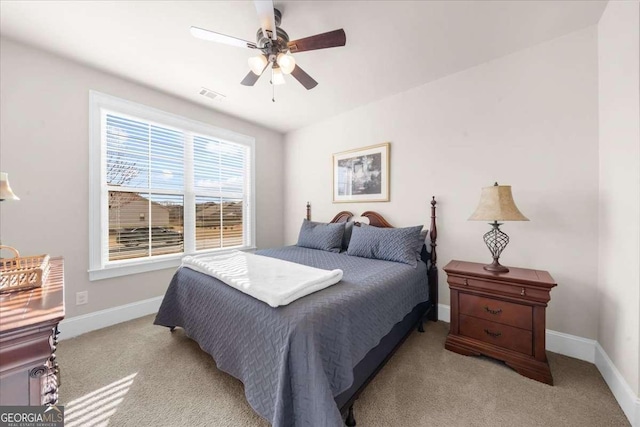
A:
[[[47,280],[49,255],[20,257],[16,248],[0,246],[3,249],[13,252],[14,258],[0,258],[0,292],[39,288]]]

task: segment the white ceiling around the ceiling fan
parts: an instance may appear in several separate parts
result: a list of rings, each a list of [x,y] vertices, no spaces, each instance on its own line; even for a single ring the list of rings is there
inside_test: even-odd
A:
[[[319,85],[240,85],[255,51],[193,38],[191,25],[254,41],[250,1],[5,1],[0,33],[286,132],[596,24],[606,1],[276,1],[292,40],[338,28],[345,47],[296,54]],[[201,86],[226,95],[212,101]]]

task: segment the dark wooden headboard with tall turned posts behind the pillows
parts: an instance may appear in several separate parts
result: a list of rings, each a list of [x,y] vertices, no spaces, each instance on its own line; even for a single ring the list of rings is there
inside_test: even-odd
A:
[[[428,313],[430,320],[438,320],[438,255],[436,252],[436,240],[438,239],[438,228],[436,226],[436,197],[431,198],[431,221],[429,223],[429,240],[431,248],[428,253],[422,250],[423,261],[428,262],[429,269],[427,270],[427,279],[429,282],[429,300],[432,303],[431,310]],[[366,211],[361,217],[367,217],[369,219],[369,225],[382,228],[393,228],[389,222],[384,219],[382,215],[374,211]],[[353,218],[353,214],[349,211],[341,211],[333,217],[330,221],[332,223],[348,222]],[[311,203],[307,202],[307,219],[311,221]]]

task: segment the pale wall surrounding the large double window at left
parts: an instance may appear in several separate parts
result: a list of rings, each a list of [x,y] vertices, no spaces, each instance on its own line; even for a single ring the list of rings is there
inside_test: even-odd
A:
[[[21,198],[1,205],[2,242],[65,257],[67,317],[163,295],[173,273],[89,282],[90,89],[255,137],[257,245],[282,245],[281,134],[6,39],[0,67],[0,168]]]

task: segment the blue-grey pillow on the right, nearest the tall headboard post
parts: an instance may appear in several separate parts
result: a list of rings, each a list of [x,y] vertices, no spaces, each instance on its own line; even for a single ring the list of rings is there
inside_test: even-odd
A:
[[[348,255],[418,265],[416,247],[422,226],[405,228],[354,227]]]

